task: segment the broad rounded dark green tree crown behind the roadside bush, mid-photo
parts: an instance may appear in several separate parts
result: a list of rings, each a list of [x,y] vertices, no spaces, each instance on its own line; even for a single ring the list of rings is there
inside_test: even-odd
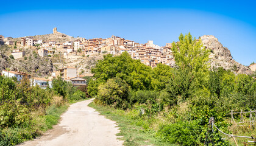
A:
[[[127,52],[113,57],[105,55],[104,60],[99,60],[95,68],[91,69],[96,80],[88,85],[88,92],[91,96],[96,95],[98,86],[107,82],[110,78],[121,78],[131,89],[153,89],[152,68],[133,60]]]

